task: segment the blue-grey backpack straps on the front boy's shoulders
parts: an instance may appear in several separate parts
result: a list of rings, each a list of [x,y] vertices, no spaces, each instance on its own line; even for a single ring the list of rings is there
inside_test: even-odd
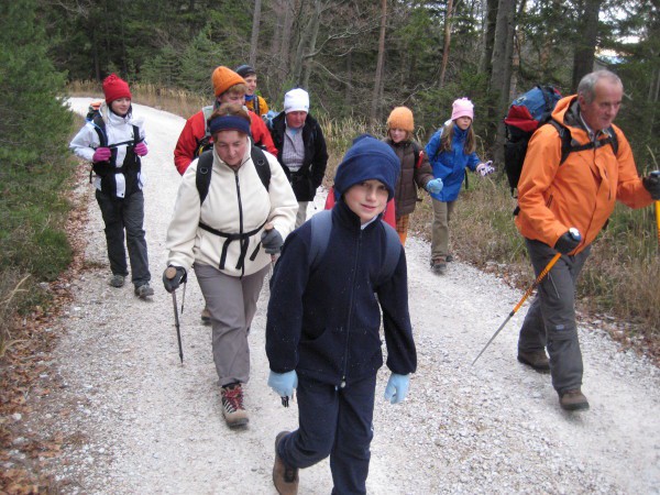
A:
[[[323,254],[330,243],[330,232],[332,230],[332,210],[319,211],[309,219],[311,227],[311,245],[309,248],[308,265],[309,271],[312,272],[319,267]],[[380,221],[381,228],[385,229],[385,260],[383,266],[376,277],[376,285],[381,285],[384,282],[392,278],[398,260],[402,253],[402,241],[399,240],[396,230],[392,226],[388,226],[384,221]]]

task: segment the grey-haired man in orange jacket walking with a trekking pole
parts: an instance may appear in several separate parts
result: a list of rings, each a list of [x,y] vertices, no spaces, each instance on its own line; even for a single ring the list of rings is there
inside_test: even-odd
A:
[[[660,179],[638,176],[628,140],[612,124],[623,92],[620,79],[610,72],[584,76],[578,95],[560,100],[552,112],[560,125],[542,125],[532,135],[518,183],[516,227],[525,237],[537,276],[558,252],[562,254],[527,312],[518,361],[550,371],[565,410],[588,409],[581,391],[583,365],[574,302],[575,280],[591,243],[616,200],[644,208],[660,199]],[[560,132],[570,132],[568,155]],[[572,234],[571,228],[580,235]]]

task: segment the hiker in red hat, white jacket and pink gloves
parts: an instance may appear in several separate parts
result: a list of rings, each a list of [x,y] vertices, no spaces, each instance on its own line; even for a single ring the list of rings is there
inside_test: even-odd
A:
[[[146,240],[144,238],[144,143],[142,120],[133,119],[129,85],[111,74],[103,80],[106,101],[99,114],[76,134],[69,147],[92,164],[96,198],[106,223],[106,242],[112,276],[109,284],[122,287],[129,275],[125,243],[131,262],[131,282],[141,299],[153,296]]]

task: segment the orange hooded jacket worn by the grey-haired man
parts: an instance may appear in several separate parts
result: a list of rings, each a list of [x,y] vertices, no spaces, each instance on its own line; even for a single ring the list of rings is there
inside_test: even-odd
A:
[[[552,117],[571,131],[573,144],[588,143],[588,134],[576,113],[578,97],[562,98]],[[516,217],[518,231],[527,239],[554,246],[569,228],[575,227],[582,242],[571,253],[584,250],[596,238],[619,200],[630,208],[651,205],[651,195],[637,174],[630,144],[613,125],[618,141],[610,145],[573,152],[561,161],[561,139],[553,125],[542,125],[531,140],[518,182]],[[606,139],[601,133],[598,139]]]

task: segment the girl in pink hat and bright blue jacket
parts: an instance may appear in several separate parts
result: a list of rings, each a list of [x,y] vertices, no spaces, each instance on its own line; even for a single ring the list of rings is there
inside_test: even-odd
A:
[[[465,167],[482,177],[492,174],[493,162],[482,163],[476,155],[476,140],[472,129],[474,105],[460,98],[452,105],[451,120],[446,122],[426,145],[426,153],[433,168],[433,176],[441,178],[444,187],[431,193],[433,224],[431,227],[431,268],[438,274],[447,270],[449,255],[449,220],[465,177]]]

